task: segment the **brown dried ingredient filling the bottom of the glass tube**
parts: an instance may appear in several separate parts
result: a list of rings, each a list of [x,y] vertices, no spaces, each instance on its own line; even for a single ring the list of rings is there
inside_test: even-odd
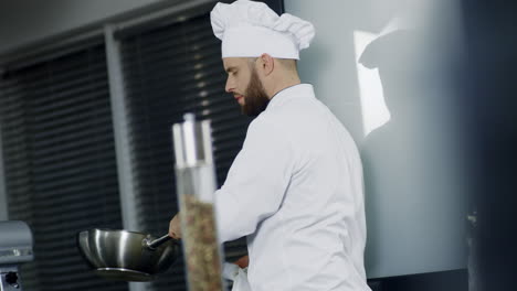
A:
[[[213,205],[182,195],[181,223],[190,291],[222,291]]]

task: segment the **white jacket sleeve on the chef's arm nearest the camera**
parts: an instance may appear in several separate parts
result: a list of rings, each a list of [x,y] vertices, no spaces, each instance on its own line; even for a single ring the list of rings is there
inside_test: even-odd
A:
[[[255,119],[224,185],[215,192],[220,242],[253,234],[283,201],[293,172],[292,144],[274,125]]]

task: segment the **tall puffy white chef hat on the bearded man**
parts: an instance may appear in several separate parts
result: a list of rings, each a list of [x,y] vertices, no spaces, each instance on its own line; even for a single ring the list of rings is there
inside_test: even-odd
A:
[[[263,2],[218,3],[210,18],[213,33],[222,41],[222,57],[257,57],[267,53],[299,60],[299,51],[308,47],[315,35],[310,22],[288,13],[278,17]]]

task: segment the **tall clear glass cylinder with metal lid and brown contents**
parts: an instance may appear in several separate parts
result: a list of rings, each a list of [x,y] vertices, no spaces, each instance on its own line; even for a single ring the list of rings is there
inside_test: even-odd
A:
[[[189,291],[222,291],[222,249],[214,213],[215,173],[210,121],[192,114],[172,126],[181,239]]]

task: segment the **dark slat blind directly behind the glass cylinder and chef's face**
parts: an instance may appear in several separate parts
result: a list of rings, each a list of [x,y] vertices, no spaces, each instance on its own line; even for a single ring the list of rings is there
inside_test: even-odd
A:
[[[161,235],[178,211],[171,126],[186,112],[211,120],[221,185],[251,120],[224,93],[221,43],[213,36],[209,11],[119,41],[138,217],[146,231]],[[244,252],[243,239],[225,245],[229,260]],[[152,290],[184,290],[182,263],[181,259],[155,281]]]

